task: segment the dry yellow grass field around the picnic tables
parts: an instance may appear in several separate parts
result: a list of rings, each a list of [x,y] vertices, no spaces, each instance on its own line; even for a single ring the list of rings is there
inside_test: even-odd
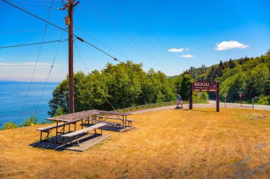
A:
[[[259,116],[259,117],[257,117]],[[0,178],[269,178],[270,112],[163,110],[83,153],[28,146],[38,126],[0,131]]]

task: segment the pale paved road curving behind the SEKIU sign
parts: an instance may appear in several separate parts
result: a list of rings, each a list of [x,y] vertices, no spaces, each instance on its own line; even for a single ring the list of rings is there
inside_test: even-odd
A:
[[[208,101],[209,104],[193,104],[193,109],[194,108],[215,108],[215,101]],[[144,112],[154,112],[154,111],[160,111],[164,109],[174,109],[176,105],[173,106],[166,106],[166,107],[155,107],[155,108],[150,108],[150,109],[141,109],[139,111],[132,112],[133,114],[140,114]],[[227,108],[237,108],[237,109],[252,109],[252,104],[242,104],[242,107],[240,104],[236,103],[226,103]],[[188,109],[188,104],[183,104],[184,109]],[[225,103],[220,102],[220,109],[225,108]],[[267,110],[270,111],[270,105],[259,105],[259,104],[254,104],[254,109],[260,109],[260,110]]]

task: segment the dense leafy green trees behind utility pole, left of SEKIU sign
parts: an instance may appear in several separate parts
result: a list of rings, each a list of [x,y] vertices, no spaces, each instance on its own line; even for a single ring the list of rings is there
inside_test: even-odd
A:
[[[75,83],[75,112],[88,109],[113,110],[142,104],[175,101],[175,94],[188,99],[189,74],[168,78],[161,71],[145,72],[142,64],[131,61],[112,65],[107,63],[100,72],[77,72]],[[50,116],[68,114],[68,76],[53,90]],[[205,99],[205,96],[203,96]],[[198,98],[198,100],[200,97]]]

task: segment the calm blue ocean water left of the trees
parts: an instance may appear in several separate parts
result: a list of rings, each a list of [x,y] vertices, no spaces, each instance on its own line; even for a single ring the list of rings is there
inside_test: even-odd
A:
[[[47,119],[50,110],[48,102],[52,98],[53,89],[58,84],[58,82],[48,82],[45,86],[45,82],[32,82],[28,93],[30,82],[0,82],[0,129],[6,121],[23,123],[25,119],[33,116],[35,111],[39,122]]]

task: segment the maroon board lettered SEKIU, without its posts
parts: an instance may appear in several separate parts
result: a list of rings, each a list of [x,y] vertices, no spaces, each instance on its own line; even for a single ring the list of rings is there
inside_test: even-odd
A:
[[[207,80],[193,82],[192,90],[195,92],[216,92],[217,82],[211,82]]]

